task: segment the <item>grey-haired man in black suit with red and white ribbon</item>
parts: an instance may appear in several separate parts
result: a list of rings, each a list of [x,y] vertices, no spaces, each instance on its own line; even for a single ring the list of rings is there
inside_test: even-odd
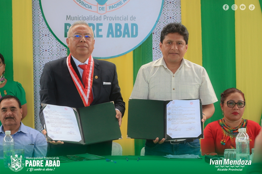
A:
[[[116,118],[121,126],[125,102],[118,85],[116,65],[93,59],[93,36],[92,28],[85,21],[72,24],[66,39],[70,55],[45,64],[40,79],[40,100],[45,104],[74,108],[114,101]],[[39,117],[44,127],[42,107]],[[43,130],[43,133],[46,134],[46,131]],[[87,146],[52,141],[48,143],[47,156],[82,153],[111,155],[111,150],[112,141]]]

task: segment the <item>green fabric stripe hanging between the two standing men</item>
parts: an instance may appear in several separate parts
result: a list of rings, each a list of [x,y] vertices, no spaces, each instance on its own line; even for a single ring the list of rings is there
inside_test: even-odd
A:
[[[139,68],[152,61],[153,52],[152,52],[152,35],[144,41],[139,47],[133,50],[133,76],[134,83],[137,79],[137,73]],[[145,146],[145,139],[135,139],[135,155],[140,155],[141,149]]]

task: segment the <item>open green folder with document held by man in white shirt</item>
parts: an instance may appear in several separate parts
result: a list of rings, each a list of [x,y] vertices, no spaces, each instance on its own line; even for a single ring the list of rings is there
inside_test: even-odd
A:
[[[203,138],[202,99],[129,99],[128,138]]]

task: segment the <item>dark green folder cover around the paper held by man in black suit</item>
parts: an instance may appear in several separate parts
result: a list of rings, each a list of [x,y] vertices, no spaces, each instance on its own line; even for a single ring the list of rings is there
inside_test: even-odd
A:
[[[46,106],[47,104],[42,104],[43,110]],[[63,142],[88,145],[122,139],[120,127],[116,118],[114,102],[72,109],[74,110],[82,139],[79,142]],[[48,130],[46,131],[47,141],[54,141],[48,136]]]

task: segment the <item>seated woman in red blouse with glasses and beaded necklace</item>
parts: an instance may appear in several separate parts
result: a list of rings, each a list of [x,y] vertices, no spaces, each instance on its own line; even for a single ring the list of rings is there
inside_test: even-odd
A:
[[[250,139],[249,150],[254,148],[254,140],[261,126],[251,120],[243,119],[245,111],[245,96],[236,88],[229,88],[221,94],[220,106],[223,118],[206,125],[204,139],[201,139],[203,153],[224,155],[225,149],[236,148],[236,136],[239,128],[246,128]]]

